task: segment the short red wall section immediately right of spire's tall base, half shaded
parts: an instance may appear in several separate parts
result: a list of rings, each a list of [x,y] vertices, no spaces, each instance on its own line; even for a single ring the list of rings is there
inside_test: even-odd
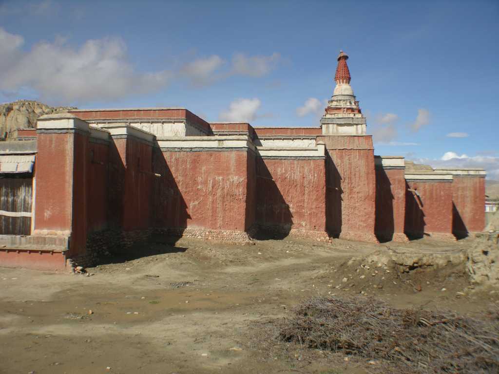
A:
[[[404,240],[406,182],[404,169],[376,167],[376,236]],[[399,234],[399,235],[394,235]]]

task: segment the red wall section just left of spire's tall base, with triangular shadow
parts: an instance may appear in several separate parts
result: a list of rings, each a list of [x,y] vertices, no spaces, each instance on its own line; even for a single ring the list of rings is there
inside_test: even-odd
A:
[[[325,232],[324,160],[258,158],[256,165],[259,225]]]

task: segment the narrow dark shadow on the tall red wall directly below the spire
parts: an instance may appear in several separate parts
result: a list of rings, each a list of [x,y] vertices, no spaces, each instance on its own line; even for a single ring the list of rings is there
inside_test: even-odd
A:
[[[326,230],[333,238],[338,238],[341,233],[342,194],[340,173],[331,156],[326,152]]]

